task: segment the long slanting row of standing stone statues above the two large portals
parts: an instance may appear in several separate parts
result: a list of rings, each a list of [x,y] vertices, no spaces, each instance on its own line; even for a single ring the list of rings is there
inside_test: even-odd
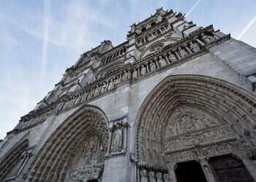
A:
[[[145,63],[141,64],[140,66],[135,66],[135,68],[132,68],[132,70],[127,68],[126,70],[121,71],[121,73],[116,77],[108,79],[108,81],[96,84],[94,87],[91,87],[83,92],[78,92],[76,95],[72,95],[71,98],[69,97],[64,101],[62,100],[62,104],[59,103],[58,107],[61,109],[69,108],[83,102],[83,100],[89,100],[97,95],[107,92],[108,90],[113,90],[113,88],[121,82],[127,82],[130,79],[137,79],[140,76],[144,76],[156,71],[159,68],[165,67],[170,63],[182,60],[187,58],[189,55],[200,52],[202,46],[210,44],[213,41],[216,41],[214,36],[208,36],[201,33],[198,39],[189,41],[186,46],[180,46],[177,47],[176,50],[163,52],[162,55],[158,55],[152,59],[146,60]],[[58,111],[60,108],[58,108]]]

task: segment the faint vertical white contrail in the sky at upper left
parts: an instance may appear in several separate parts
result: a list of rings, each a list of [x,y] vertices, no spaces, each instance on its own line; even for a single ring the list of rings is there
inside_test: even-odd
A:
[[[42,78],[45,77],[47,66],[47,50],[49,41],[49,26],[50,26],[50,0],[44,1],[44,32],[42,43]]]

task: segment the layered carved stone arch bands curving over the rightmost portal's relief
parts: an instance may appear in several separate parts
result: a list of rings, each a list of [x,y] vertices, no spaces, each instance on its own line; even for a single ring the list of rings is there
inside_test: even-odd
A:
[[[254,97],[241,87],[208,76],[168,76],[148,95],[136,118],[135,154],[139,165],[165,167],[162,136],[168,119],[179,106],[208,112],[230,126],[238,137],[245,130],[253,133]],[[251,147],[256,145],[254,141],[246,142]]]

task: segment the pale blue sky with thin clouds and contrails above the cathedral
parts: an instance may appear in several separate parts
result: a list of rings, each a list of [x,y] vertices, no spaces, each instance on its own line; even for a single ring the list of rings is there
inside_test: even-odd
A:
[[[0,0],[0,138],[59,82],[80,54],[164,7],[189,12],[256,47],[255,0]]]

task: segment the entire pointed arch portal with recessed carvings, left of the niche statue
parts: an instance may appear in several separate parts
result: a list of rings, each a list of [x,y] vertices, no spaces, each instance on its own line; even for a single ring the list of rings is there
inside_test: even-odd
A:
[[[103,111],[95,106],[79,108],[42,146],[29,181],[101,181],[108,136]]]

